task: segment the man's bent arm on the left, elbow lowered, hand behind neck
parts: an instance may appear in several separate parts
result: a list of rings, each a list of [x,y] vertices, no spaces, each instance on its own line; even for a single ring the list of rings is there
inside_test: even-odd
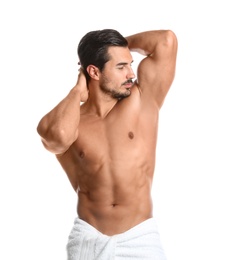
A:
[[[69,94],[39,122],[37,132],[43,145],[55,154],[64,153],[78,137],[80,104],[88,98],[82,72]]]

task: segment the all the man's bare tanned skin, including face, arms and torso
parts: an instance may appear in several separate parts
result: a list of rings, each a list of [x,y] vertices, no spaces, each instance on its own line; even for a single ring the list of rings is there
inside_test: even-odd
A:
[[[125,232],[153,216],[159,111],[176,67],[172,31],[126,39],[127,48],[109,47],[111,59],[103,71],[88,66],[88,88],[80,71],[76,85],[37,127],[78,195],[78,216],[106,235]],[[144,55],[137,75],[132,51]]]

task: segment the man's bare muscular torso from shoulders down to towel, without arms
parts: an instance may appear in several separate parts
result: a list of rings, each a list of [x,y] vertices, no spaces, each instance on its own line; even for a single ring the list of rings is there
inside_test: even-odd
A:
[[[79,136],[57,156],[78,193],[77,212],[107,235],[152,216],[158,110],[146,106],[136,86],[101,118],[81,108]]]

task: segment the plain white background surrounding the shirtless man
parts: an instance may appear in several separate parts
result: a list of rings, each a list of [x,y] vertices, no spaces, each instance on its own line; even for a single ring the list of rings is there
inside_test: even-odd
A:
[[[1,1],[0,259],[66,259],[76,195],[36,126],[75,84],[80,38],[104,28],[176,33],[154,214],[168,260],[230,259],[229,24],[224,0]]]

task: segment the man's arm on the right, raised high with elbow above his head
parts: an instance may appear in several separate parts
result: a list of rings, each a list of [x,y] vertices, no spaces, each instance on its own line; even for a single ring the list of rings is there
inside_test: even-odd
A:
[[[177,38],[170,30],[156,30],[126,39],[130,51],[146,56],[138,66],[137,81],[144,98],[155,101],[160,108],[175,75]]]

